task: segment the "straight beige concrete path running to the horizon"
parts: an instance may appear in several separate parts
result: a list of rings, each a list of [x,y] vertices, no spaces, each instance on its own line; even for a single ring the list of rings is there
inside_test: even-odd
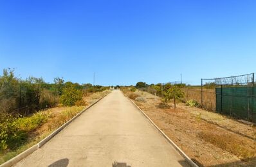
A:
[[[131,167],[187,166],[120,91],[100,100],[16,166],[105,167],[114,161]]]

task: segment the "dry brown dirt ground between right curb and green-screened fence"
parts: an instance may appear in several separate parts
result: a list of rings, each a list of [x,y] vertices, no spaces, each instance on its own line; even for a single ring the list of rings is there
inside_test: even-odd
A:
[[[146,102],[134,102],[199,166],[256,166],[255,127],[184,103],[159,109],[157,96],[135,94]]]

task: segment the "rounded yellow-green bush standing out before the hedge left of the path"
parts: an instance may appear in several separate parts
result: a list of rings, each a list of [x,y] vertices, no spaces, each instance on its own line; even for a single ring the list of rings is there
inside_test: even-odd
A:
[[[82,91],[75,89],[75,85],[69,85],[64,88],[60,101],[65,106],[73,106],[75,102],[82,100]]]

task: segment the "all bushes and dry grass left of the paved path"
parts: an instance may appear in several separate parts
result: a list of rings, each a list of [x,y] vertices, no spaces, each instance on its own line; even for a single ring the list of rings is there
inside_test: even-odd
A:
[[[109,87],[42,78],[0,76],[0,164],[39,142],[110,91]]]

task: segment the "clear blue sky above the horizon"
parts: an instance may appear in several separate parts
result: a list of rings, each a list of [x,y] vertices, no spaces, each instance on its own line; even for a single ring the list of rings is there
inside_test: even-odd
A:
[[[256,1],[0,1],[0,70],[131,85],[256,72]]]

